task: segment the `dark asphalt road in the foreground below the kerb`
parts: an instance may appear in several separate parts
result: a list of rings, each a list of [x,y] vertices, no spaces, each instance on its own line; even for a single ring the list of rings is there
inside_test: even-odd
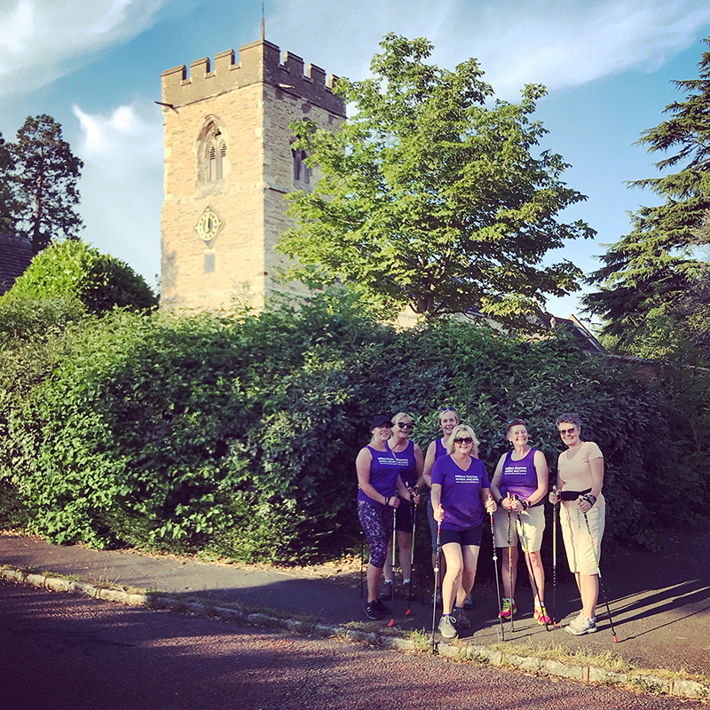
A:
[[[0,708],[707,706],[0,584]]]

